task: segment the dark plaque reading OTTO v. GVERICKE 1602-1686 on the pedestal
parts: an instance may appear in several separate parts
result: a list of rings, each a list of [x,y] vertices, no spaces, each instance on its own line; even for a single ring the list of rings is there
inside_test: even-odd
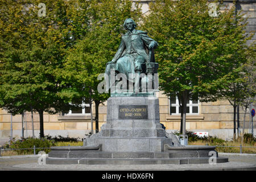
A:
[[[147,105],[119,105],[118,119],[148,119]]]

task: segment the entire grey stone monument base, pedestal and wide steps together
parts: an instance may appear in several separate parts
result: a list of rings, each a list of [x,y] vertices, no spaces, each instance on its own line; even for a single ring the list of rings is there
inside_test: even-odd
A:
[[[228,162],[228,158],[218,157],[214,146],[181,146],[171,138],[167,138],[165,130],[159,123],[159,100],[156,97],[110,97],[107,112],[106,124],[101,127],[99,133],[86,139],[85,146],[51,147],[46,163]]]

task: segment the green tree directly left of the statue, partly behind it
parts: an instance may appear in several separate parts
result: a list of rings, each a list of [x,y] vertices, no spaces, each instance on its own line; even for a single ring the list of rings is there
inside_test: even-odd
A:
[[[84,11],[80,9],[81,11]],[[141,11],[133,2],[89,1],[86,9],[90,24],[86,36],[68,50],[64,69],[59,71],[61,85],[66,86],[61,96],[74,104],[86,102],[96,106],[96,133],[98,132],[98,106],[109,94],[98,93],[97,87],[102,80],[98,75],[105,72],[106,63],[112,60],[124,33],[123,22],[126,18],[139,19]],[[72,32],[76,32],[73,30]],[[92,109],[91,109],[92,122]],[[93,133],[93,129],[92,129]]]

